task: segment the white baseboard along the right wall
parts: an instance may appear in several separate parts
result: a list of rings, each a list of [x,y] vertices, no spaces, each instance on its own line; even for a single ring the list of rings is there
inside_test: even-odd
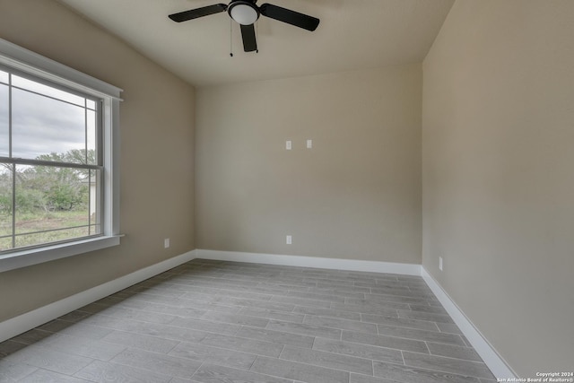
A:
[[[494,376],[500,379],[516,379],[517,374],[509,367],[508,363],[502,359],[494,347],[492,347],[481,332],[473,325],[473,322],[458,308],[457,303],[448,296],[448,293],[440,287],[439,283],[434,280],[424,267],[421,267],[421,275],[424,282],[429,285],[442,306],[447,310],[448,315],[453,318],[457,326],[466,336],[468,342],[473,345],[476,353],[483,358],[484,363],[491,369]]]

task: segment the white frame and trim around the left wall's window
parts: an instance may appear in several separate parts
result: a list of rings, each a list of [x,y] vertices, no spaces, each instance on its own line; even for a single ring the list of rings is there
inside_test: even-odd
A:
[[[7,252],[0,255],[0,273],[119,245],[119,102],[122,90],[4,39],[0,39],[0,64],[100,98],[104,167],[103,235]]]

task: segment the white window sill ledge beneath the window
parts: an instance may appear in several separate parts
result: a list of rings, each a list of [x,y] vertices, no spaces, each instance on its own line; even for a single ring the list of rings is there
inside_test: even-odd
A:
[[[0,273],[30,265],[38,265],[65,257],[73,257],[102,248],[119,245],[120,236],[98,237],[75,242],[33,248],[0,256]]]

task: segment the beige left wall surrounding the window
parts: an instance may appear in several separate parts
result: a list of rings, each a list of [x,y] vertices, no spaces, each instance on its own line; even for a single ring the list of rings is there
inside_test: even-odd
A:
[[[0,274],[0,321],[195,248],[194,90],[52,0],[0,0],[0,38],[125,91],[115,248]],[[171,248],[163,248],[170,237]]]

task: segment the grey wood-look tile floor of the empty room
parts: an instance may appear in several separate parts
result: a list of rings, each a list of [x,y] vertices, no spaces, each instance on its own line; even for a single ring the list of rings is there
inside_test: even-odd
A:
[[[0,343],[1,382],[494,380],[421,277],[202,259]]]

